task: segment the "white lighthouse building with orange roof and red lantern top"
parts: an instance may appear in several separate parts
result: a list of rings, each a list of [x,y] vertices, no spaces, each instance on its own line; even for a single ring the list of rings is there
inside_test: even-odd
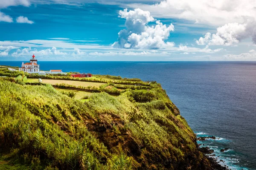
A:
[[[30,62],[22,62],[21,68],[19,71],[24,71],[27,73],[39,73],[40,72],[40,65],[37,64],[37,59],[35,59],[35,55],[32,56]]]

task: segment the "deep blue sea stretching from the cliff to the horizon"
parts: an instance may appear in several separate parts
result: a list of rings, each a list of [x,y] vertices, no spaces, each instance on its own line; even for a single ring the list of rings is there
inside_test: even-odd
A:
[[[42,70],[110,74],[157,81],[215,158],[232,170],[256,170],[256,62],[38,62]],[[21,62],[0,65],[20,66]],[[220,152],[222,148],[229,148]]]

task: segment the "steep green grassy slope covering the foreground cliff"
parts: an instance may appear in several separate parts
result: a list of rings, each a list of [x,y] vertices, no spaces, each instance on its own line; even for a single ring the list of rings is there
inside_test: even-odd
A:
[[[80,102],[51,85],[0,80],[0,154],[31,169],[207,167],[175,105],[159,84],[151,87]]]

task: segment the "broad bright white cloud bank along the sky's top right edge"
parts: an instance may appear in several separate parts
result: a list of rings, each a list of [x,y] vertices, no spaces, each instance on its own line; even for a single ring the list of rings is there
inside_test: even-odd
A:
[[[256,20],[255,0],[163,0],[154,5],[130,3],[158,18],[177,18],[213,26]]]

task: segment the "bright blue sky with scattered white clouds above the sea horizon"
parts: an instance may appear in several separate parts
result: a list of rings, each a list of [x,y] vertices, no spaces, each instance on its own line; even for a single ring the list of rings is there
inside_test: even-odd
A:
[[[0,61],[256,61],[256,0],[0,0]]]

